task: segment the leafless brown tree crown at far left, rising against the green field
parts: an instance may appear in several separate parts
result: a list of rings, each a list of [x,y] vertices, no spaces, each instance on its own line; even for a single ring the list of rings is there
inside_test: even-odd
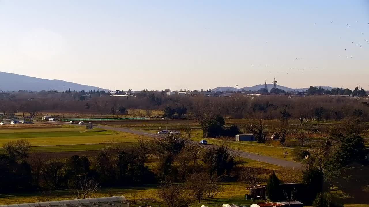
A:
[[[8,152],[9,157],[15,158],[19,156],[21,159],[26,158],[28,156],[28,151],[31,149],[31,143],[28,140],[15,140],[8,141],[3,144],[3,147]]]

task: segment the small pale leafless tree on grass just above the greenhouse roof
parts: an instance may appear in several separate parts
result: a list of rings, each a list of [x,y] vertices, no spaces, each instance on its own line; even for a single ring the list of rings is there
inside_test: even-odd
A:
[[[82,179],[76,189],[70,189],[70,194],[75,199],[88,199],[100,189],[100,184],[93,178]]]

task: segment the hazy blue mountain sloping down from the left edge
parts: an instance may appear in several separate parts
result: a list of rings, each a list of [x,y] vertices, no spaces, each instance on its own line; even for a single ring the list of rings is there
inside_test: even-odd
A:
[[[42,90],[57,90],[62,91],[70,90],[72,91],[90,91],[97,90],[98,87],[90,85],[82,85],[72,82],[67,82],[63,80],[48,80],[42,78],[34,78],[30,76],[23,76],[14,73],[5,73],[0,71],[0,89],[2,91],[42,91]],[[99,88],[99,90],[110,91],[108,89]]]

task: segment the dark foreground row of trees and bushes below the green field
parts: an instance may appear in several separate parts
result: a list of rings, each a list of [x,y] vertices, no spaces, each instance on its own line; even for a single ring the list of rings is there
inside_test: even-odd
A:
[[[214,190],[215,186],[219,190],[220,178],[234,178],[232,172],[238,164],[227,147],[207,150],[177,135],[154,140],[140,137],[129,149],[110,143],[96,157],[73,155],[68,159],[30,153],[31,144],[27,140],[10,141],[3,147],[6,154],[0,155],[1,193],[55,189],[76,193],[86,185],[97,190],[100,186],[143,186],[157,182],[184,182],[186,186],[194,186],[199,178],[202,187]],[[156,159],[157,166],[148,168],[148,158]],[[208,192],[208,195],[214,197],[216,193]],[[201,200],[205,195],[203,191],[194,196]],[[74,196],[85,198],[81,194]]]

